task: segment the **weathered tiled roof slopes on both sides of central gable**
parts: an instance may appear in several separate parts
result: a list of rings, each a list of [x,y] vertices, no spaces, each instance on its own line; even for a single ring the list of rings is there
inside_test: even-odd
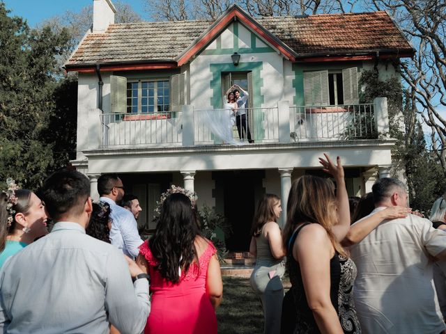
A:
[[[255,18],[298,58],[372,51],[411,53],[412,47],[385,12]],[[213,22],[110,24],[89,34],[66,65],[174,61]]]

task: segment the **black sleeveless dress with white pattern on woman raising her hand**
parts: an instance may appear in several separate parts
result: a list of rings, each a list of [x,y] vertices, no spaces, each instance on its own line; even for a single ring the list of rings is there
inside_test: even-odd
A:
[[[282,307],[282,333],[314,334],[318,330],[313,312],[310,310],[305,289],[302,283],[299,263],[293,257],[293,244],[300,226],[289,242],[289,253],[286,255],[286,271],[291,281],[291,289],[284,297]],[[361,333],[357,320],[355,304],[353,303],[353,283],[356,278],[356,266],[350,259],[335,253],[330,260],[330,299],[341,322],[344,333]]]

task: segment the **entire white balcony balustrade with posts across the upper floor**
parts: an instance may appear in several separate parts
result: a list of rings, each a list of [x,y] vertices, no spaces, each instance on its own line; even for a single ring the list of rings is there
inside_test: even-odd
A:
[[[240,140],[231,111],[194,109],[129,114],[101,113],[89,118],[89,148],[175,148],[203,145],[248,145]],[[254,144],[355,141],[388,136],[387,100],[342,106],[289,106],[247,109]],[[99,122],[98,122],[99,120]]]

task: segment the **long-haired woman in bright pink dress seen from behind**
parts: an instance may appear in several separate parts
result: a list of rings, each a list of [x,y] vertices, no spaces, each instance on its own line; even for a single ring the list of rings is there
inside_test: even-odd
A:
[[[151,313],[144,333],[217,333],[222,298],[217,250],[201,237],[190,198],[173,193],[162,204],[155,235],[137,262],[151,276]]]

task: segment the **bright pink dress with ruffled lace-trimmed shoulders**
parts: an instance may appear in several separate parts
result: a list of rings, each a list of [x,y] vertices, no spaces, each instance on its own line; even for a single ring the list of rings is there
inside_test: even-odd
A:
[[[151,312],[144,333],[217,333],[217,317],[206,294],[206,276],[210,258],[217,252],[209,241],[206,250],[196,262],[182,272],[180,282],[174,284],[162,278],[155,269],[148,242],[139,246],[139,252],[148,262],[151,276]]]

